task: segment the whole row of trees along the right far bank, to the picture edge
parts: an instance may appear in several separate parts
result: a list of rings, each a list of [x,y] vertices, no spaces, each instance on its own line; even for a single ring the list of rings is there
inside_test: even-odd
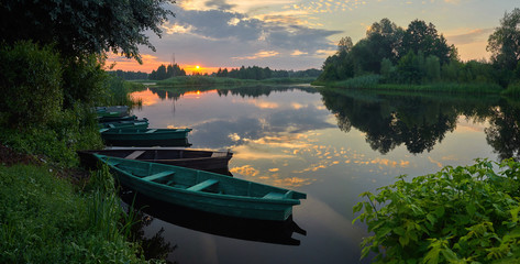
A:
[[[498,84],[520,81],[520,9],[505,14],[489,36],[490,62],[462,62],[432,23],[413,20],[407,29],[388,19],[375,22],[366,36],[353,44],[345,36],[323,63],[320,81],[340,81],[372,75],[378,82],[422,85],[432,82]]]

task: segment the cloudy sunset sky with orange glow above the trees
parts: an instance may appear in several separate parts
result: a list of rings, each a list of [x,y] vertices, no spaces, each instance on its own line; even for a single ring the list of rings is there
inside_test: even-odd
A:
[[[488,58],[487,38],[518,0],[177,0],[163,36],[148,34],[157,48],[141,47],[143,65],[111,55],[114,69],[150,73],[175,62],[187,74],[219,67],[321,68],[339,40],[365,37],[367,28],[388,18],[401,28],[431,22],[463,61]],[[196,66],[200,66],[196,69]]]

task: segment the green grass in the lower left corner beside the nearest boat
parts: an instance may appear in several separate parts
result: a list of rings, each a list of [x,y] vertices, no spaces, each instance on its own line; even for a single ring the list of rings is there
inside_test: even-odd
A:
[[[145,263],[109,177],[79,193],[46,167],[0,166],[0,263]]]

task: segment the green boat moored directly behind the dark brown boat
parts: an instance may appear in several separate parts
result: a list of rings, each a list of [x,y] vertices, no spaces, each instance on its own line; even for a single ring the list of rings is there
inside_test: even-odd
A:
[[[191,129],[110,129],[101,132],[107,145],[186,146]]]

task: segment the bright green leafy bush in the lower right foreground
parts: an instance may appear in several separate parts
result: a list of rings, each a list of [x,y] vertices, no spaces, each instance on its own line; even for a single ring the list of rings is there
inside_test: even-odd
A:
[[[496,172],[494,166],[498,166]],[[486,160],[406,182],[405,176],[368,201],[355,221],[374,232],[362,256],[375,263],[490,263],[520,261],[520,164]]]

